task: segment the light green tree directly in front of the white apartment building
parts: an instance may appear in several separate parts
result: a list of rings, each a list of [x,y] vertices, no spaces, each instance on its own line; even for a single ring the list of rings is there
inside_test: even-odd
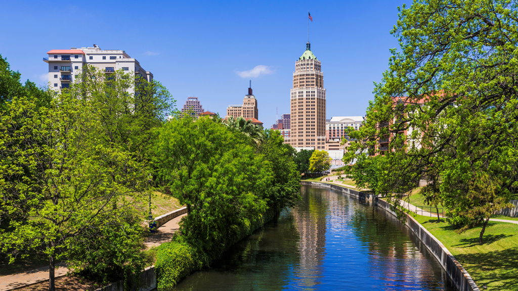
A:
[[[122,69],[106,74],[91,65],[83,67],[65,94],[92,108],[92,117],[99,123],[100,141],[108,147],[129,150],[139,160],[148,154],[153,129],[164,123],[166,113],[176,103],[156,80],[148,82]]]

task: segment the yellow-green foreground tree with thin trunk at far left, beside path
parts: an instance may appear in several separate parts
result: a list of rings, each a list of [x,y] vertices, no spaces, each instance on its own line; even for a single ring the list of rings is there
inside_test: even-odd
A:
[[[92,262],[75,259],[73,250],[103,237],[106,226],[127,230],[126,238],[139,241],[135,205],[145,191],[145,183],[139,183],[145,173],[127,151],[103,146],[93,130],[99,124],[90,114],[92,108],[67,94],[56,96],[49,109],[37,113],[34,100],[15,97],[6,112],[0,122],[0,153],[16,154],[2,155],[0,176],[33,179],[0,181],[0,211],[19,217],[0,230],[2,252],[10,255],[11,263],[26,251],[47,254],[49,290],[54,291],[56,259],[69,260],[72,268],[92,269]],[[14,133],[13,125],[19,128]],[[16,148],[6,148],[8,144]],[[114,199],[119,203],[113,205]],[[105,258],[111,259],[109,268],[119,274],[139,271],[141,262],[128,264],[139,250],[120,242],[117,260]]]

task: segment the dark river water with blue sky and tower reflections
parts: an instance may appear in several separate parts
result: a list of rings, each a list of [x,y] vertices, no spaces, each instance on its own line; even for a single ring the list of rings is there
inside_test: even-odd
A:
[[[455,290],[418,238],[355,198],[303,186],[302,200],[175,290]]]

